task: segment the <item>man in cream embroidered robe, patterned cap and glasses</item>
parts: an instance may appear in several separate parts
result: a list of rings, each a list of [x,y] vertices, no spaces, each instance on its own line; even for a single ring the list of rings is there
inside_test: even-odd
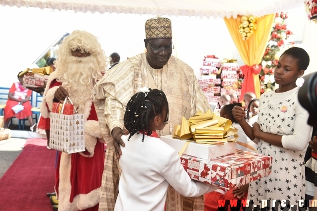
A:
[[[160,136],[171,134],[173,126],[181,123],[182,116],[189,118],[199,110],[205,112],[210,108],[193,69],[171,55],[174,48],[171,21],[163,17],[151,18],[145,23],[145,31],[147,52],[130,57],[108,70],[93,89],[99,123],[107,143],[100,211],[112,211],[115,204],[121,171],[118,143],[123,144],[120,137],[126,131],[123,128],[125,106],[138,88],[159,89],[166,95],[170,118],[167,126],[157,131]],[[203,211],[204,196],[183,198],[170,187],[166,210],[172,209]]]

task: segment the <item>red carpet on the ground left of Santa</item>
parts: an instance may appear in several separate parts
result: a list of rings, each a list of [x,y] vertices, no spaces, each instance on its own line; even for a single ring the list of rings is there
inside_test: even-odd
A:
[[[54,191],[55,158],[46,139],[28,139],[0,179],[0,211],[52,211],[46,193]]]

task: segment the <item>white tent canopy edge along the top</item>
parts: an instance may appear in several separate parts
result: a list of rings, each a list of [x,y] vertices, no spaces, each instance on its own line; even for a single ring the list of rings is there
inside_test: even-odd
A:
[[[0,0],[0,5],[75,12],[183,15],[197,17],[263,16],[293,9],[304,0]]]

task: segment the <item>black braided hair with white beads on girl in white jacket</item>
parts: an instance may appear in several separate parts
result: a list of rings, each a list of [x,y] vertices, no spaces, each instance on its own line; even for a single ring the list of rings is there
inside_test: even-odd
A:
[[[152,134],[149,128],[149,119],[163,113],[166,108],[166,118],[164,124],[168,120],[168,102],[163,91],[158,89],[141,88],[138,93],[132,96],[128,102],[124,113],[124,126],[129,131],[128,141],[134,134],[142,131],[144,141],[145,134]]]

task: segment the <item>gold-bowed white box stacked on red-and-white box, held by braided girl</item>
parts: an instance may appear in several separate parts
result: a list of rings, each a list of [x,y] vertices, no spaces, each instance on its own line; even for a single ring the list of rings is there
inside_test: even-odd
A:
[[[272,157],[235,149],[236,133],[230,120],[209,110],[183,117],[173,135],[160,139],[179,153],[192,179],[228,190],[268,176],[272,166]]]

